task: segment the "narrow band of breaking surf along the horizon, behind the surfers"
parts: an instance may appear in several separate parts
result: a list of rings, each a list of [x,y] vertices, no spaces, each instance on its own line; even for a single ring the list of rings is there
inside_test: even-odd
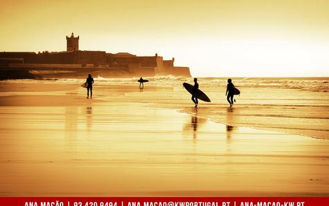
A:
[[[94,77],[97,84],[138,84],[140,77],[130,78],[105,78]],[[143,77],[148,79],[148,84],[175,86],[181,85],[183,82],[193,84],[193,77],[177,77],[173,75],[159,75],[154,77]],[[301,78],[252,78],[238,77],[232,78],[233,84],[238,88],[294,88],[302,91],[328,92],[329,77],[301,77]],[[85,79],[21,79],[21,80],[4,80],[8,82],[60,82],[64,84],[82,84]],[[199,77],[198,82],[202,88],[225,88],[227,78],[224,77]]]

